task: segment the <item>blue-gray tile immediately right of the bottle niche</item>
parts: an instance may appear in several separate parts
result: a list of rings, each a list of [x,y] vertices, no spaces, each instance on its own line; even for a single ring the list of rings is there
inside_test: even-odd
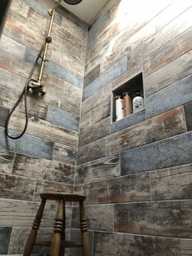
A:
[[[146,117],[154,117],[192,99],[192,75],[146,97]]]

